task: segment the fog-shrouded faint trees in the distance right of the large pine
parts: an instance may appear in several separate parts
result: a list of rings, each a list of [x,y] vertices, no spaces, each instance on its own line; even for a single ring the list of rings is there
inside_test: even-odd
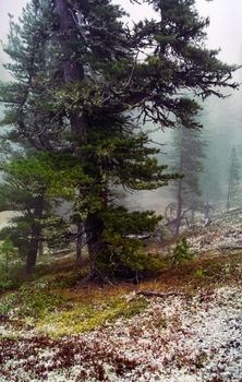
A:
[[[196,206],[196,223],[207,218],[207,206],[211,215],[216,215],[239,208],[242,203],[241,91],[230,93],[225,99],[211,96],[202,106],[197,120],[203,128],[198,132],[184,131],[183,140],[181,130],[157,132],[147,124],[147,129],[153,130],[154,144],[162,144],[158,156],[160,163],[184,175],[183,210],[189,208],[185,215],[190,219],[191,210]],[[189,166],[181,167],[182,147]],[[155,192],[143,192],[140,198],[128,196],[126,203],[132,208],[148,207],[165,214],[170,205],[177,208],[178,183],[172,182]]]

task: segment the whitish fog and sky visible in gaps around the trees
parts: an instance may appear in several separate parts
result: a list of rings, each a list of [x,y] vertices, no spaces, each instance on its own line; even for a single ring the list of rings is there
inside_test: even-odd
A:
[[[147,4],[142,7],[132,4],[129,0],[116,0],[133,21],[142,17],[155,17],[155,13]],[[0,5],[0,38],[7,40],[9,28],[8,13],[19,17],[21,9],[26,4],[25,0],[3,0]],[[219,58],[228,63],[242,63],[242,1],[241,0],[197,0],[196,7],[202,16],[209,16],[210,25],[207,29],[206,45],[209,48],[219,48]],[[126,21],[128,22],[128,21]],[[2,63],[8,62],[2,49],[0,51],[0,79],[10,79]],[[242,80],[242,71],[239,70],[234,76],[237,81]],[[207,154],[203,163],[201,174],[201,190],[204,200],[225,201],[229,177],[229,157],[232,146],[237,147],[239,158],[242,162],[242,96],[241,91],[226,99],[209,98],[204,105],[201,121],[204,124],[204,139],[207,142]],[[171,150],[172,133],[156,133],[156,141],[166,143],[164,151]],[[160,155],[159,160],[169,163],[168,155]],[[211,179],[214,179],[214,184]],[[215,184],[216,183],[216,184]],[[170,202],[169,189],[156,192],[143,192],[129,199],[133,207],[155,208],[162,212]]]

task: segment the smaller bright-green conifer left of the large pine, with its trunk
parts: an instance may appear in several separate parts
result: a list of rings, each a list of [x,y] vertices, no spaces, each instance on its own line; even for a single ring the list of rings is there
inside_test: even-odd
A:
[[[82,168],[74,158],[65,162],[65,156],[17,153],[1,164],[1,170],[0,208],[19,214],[0,235],[2,239],[10,237],[20,255],[26,258],[25,270],[29,274],[43,243],[49,249],[66,246],[70,222],[58,215],[57,207],[61,198],[73,201]]]

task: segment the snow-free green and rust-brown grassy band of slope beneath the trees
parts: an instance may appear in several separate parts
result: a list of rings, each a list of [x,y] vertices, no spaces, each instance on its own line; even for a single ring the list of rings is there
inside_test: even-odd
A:
[[[50,265],[39,264],[33,279],[19,280],[13,290],[0,298],[2,337],[17,336],[26,329],[59,337],[92,331],[119,318],[130,318],[147,307],[140,297],[126,300],[137,289],[178,291],[193,296],[201,289],[213,289],[240,283],[240,251],[209,252],[203,256],[165,268],[140,285],[120,283],[100,287],[77,286],[85,272],[76,270],[73,259],[64,256]],[[10,289],[11,289],[10,288]]]

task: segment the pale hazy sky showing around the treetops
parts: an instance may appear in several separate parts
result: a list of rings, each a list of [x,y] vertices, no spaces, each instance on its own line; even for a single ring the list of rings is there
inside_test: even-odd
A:
[[[114,0],[121,4],[132,16],[138,20],[143,16],[152,17],[153,12],[148,5],[132,5],[130,0]],[[242,0],[196,0],[197,9],[202,15],[210,17],[208,29],[208,47],[221,48],[220,58],[228,63],[242,63]],[[0,4],[0,39],[5,40],[9,29],[8,13],[19,16],[26,0],[1,0]],[[0,50],[0,64],[7,61]],[[5,73],[0,65],[0,77]]]

